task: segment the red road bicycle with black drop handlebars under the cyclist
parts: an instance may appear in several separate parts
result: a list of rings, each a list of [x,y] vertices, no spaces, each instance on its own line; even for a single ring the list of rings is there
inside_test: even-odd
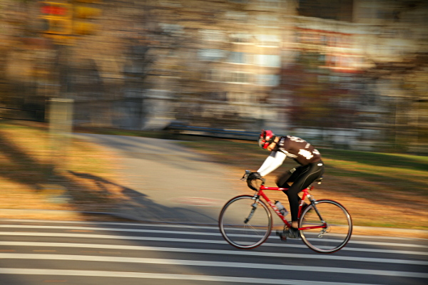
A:
[[[247,180],[249,170],[245,170],[243,180]],[[322,178],[321,178],[322,180]],[[320,180],[317,180],[320,183]],[[287,188],[265,187],[262,179],[260,187],[248,185],[255,195],[240,195],[230,199],[220,212],[218,224],[225,240],[238,249],[253,249],[266,241],[272,231],[272,214],[267,204],[284,222],[291,227],[279,209],[267,197],[265,190],[282,191]],[[352,234],[352,219],[342,204],[330,199],[315,199],[309,191],[310,185],[302,190],[299,206],[299,230],[302,241],[315,252],[332,253],[345,247]],[[263,202],[262,199],[267,202]],[[310,204],[303,201],[308,199]]]

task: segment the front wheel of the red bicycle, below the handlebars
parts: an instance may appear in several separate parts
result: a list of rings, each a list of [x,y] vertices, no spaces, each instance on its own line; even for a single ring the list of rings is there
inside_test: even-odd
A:
[[[218,218],[225,240],[238,249],[253,249],[263,244],[272,230],[272,214],[263,201],[242,195],[230,199]]]

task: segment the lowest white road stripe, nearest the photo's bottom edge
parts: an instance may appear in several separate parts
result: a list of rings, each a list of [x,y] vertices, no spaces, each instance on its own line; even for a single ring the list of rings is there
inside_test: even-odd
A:
[[[268,278],[249,278],[233,276],[210,276],[190,274],[164,274],[143,272],[121,272],[121,271],[94,271],[94,270],[61,270],[61,269],[15,269],[0,268],[0,274],[16,275],[55,275],[55,276],[93,276],[93,277],[118,277],[118,278],[140,278],[140,279],[170,279],[191,281],[218,281],[250,284],[280,284],[280,285],[373,285],[360,283],[335,283],[332,281],[306,281],[306,280],[284,280]]]

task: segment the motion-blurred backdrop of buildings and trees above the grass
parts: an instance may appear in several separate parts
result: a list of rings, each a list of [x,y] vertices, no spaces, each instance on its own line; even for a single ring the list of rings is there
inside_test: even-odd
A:
[[[0,0],[0,118],[428,153],[423,0]],[[254,135],[253,135],[254,137]]]

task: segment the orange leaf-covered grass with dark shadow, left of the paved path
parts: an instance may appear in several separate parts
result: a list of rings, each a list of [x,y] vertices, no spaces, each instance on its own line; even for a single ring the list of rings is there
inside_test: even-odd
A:
[[[0,208],[106,211],[121,197],[113,157],[55,137],[47,124],[0,120]],[[67,195],[68,200],[56,199]]]

